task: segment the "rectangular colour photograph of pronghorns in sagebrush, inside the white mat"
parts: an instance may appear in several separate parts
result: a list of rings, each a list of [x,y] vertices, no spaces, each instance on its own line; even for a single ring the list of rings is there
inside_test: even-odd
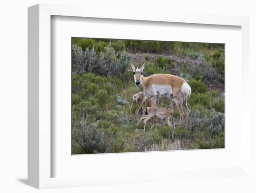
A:
[[[71,45],[71,154],[225,148],[224,44]]]

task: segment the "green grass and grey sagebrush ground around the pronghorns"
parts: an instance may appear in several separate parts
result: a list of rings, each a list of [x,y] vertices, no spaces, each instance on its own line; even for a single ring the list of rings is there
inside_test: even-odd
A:
[[[90,45],[83,42],[83,48],[79,41],[73,40],[73,154],[224,148],[223,46],[186,48],[161,43],[156,49],[156,44],[150,43],[155,48],[145,52],[147,47],[136,45],[138,41],[116,41],[112,47],[113,42],[107,40],[87,39]],[[179,125],[177,110],[171,120],[175,123],[174,138],[173,128],[163,121],[154,129],[148,123],[144,133],[143,124],[137,125],[134,115],[137,106],[129,121],[132,95],[139,92],[129,71],[131,61],[135,65],[147,62],[145,76],[171,73],[191,86],[188,121]],[[168,104],[168,100],[159,102],[161,107]]]

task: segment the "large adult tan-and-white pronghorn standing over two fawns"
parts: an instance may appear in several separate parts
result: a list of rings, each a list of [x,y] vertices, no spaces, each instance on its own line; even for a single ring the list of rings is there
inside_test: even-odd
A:
[[[132,64],[134,80],[141,92],[151,98],[152,106],[156,106],[157,98],[168,98],[175,103],[180,113],[180,122],[184,118],[184,110],[188,118],[187,100],[191,95],[189,84],[183,78],[171,74],[153,74],[149,77],[144,77],[142,75],[144,67],[145,64],[140,69],[135,69]]]

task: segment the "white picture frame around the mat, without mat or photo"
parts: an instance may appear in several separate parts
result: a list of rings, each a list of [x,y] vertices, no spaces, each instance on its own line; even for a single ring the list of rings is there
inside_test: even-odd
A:
[[[28,185],[36,188],[78,187],[119,183],[168,181],[176,177],[189,176],[191,171],[154,171],[112,176],[104,173],[99,176],[51,177],[51,16],[73,16],[86,18],[129,19],[155,22],[178,22],[203,25],[240,26],[242,31],[242,96],[241,96],[241,164],[236,167],[205,168],[193,170],[196,178],[214,176],[224,180],[225,176],[250,178],[249,168],[249,100],[243,100],[249,87],[245,77],[249,77],[249,18],[216,15],[165,15],[151,16],[119,12],[109,16],[109,10],[101,13],[81,6],[39,4],[28,8]],[[129,156],[129,155],[128,155]],[[152,172],[151,172],[152,173]],[[204,175],[205,174],[205,175]],[[159,177],[161,176],[161,177]]]

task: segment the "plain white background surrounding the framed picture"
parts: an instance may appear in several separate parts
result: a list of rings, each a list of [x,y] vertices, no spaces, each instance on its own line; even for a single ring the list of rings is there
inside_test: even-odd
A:
[[[112,3],[110,3],[112,2]],[[253,1],[243,0],[175,0],[175,1],[86,1],[86,0],[9,0],[1,2],[0,6],[0,191],[1,192],[36,192],[38,190],[26,186],[27,183],[27,7],[37,3],[81,4],[99,9],[114,6],[116,9],[128,9],[133,12],[147,10],[152,14],[158,12],[185,12],[203,14],[237,15],[250,17],[250,62],[256,64],[256,13]],[[86,10],[85,10],[86,11]],[[110,13],[111,14],[111,13]],[[255,65],[251,65],[252,92],[248,97],[254,98]],[[255,114],[255,101],[251,100],[251,124]],[[237,104],[239,105],[239,101]],[[234,108],[235,109],[235,108]],[[248,112],[249,116],[249,112]],[[252,127],[252,125],[251,125]],[[250,133],[256,136],[256,132]],[[251,140],[255,149],[256,142]],[[255,154],[253,161],[255,161]],[[255,172],[255,164],[251,170]],[[256,181],[256,180],[255,180]],[[83,188],[66,188],[44,190],[45,192],[255,192],[249,186],[252,182],[230,179],[229,183],[216,178],[202,179],[199,182],[191,180],[190,183],[148,183],[118,186],[100,186]],[[175,189],[173,189],[175,187]],[[180,188],[178,188],[180,187]]]

